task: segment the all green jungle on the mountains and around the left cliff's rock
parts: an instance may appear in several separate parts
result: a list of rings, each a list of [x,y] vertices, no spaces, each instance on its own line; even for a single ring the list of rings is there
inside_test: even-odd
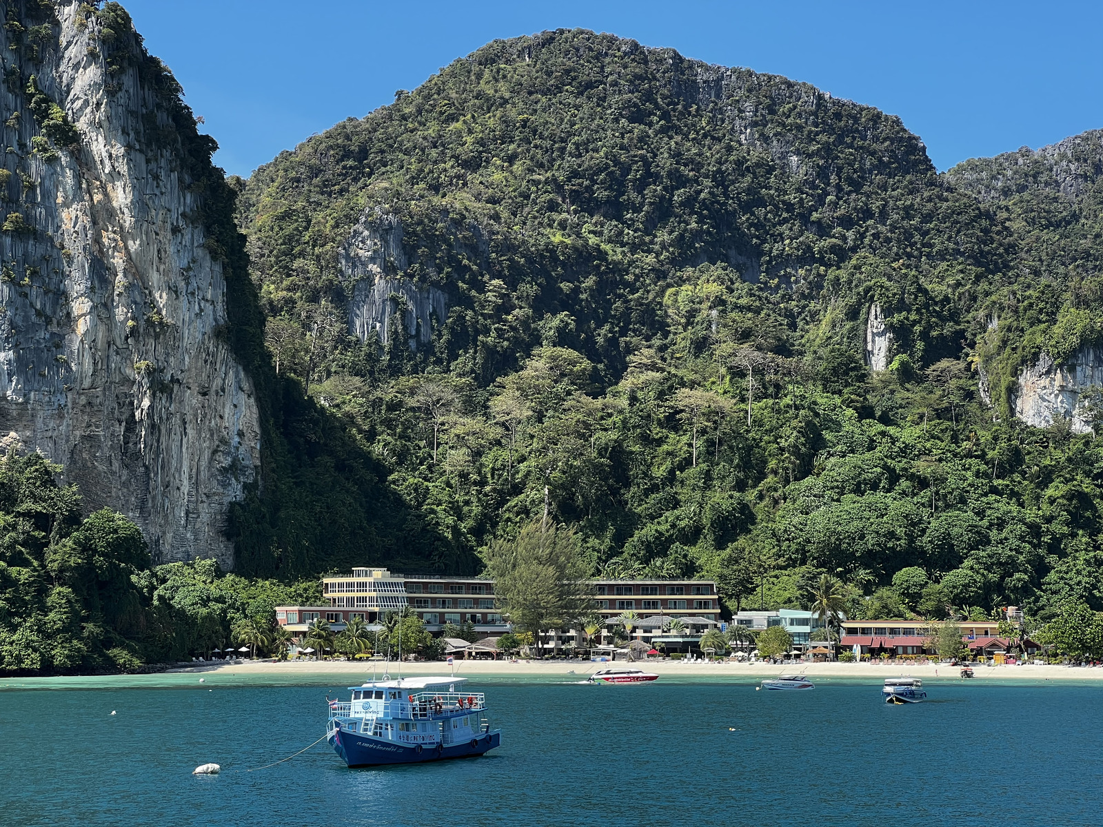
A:
[[[7,74],[34,96],[56,26],[28,9],[9,10],[38,34]],[[126,11],[82,9],[165,116],[144,149],[202,195],[263,474],[221,574],[151,568],[125,519],[81,519],[49,465],[9,458],[2,668],[266,648],[271,605],[318,599],[321,572],[481,571],[545,517],[581,571],[715,578],[731,611],[807,608],[824,576],[855,617],[1103,609],[1103,450],[1011,416],[1021,366],[1103,331],[1100,132],[940,175],[870,107],[557,31],[495,41],[242,181]],[[384,275],[441,291],[443,318],[392,292],[381,341],[350,333],[357,224],[399,239]]]

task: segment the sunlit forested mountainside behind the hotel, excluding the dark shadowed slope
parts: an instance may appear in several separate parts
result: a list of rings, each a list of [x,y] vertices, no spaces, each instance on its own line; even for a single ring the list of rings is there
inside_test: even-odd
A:
[[[1075,140],[1074,185],[1049,155],[940,176],[876,109],[546,32],[282,153],[239,217],[276,370],[441,566],[547,508],[593,573],[700,572],[732,609],[824,571],[859,614],[1101,608],[1103,453],[978,387],[1067,355],[1064,308],[1078,346],[1097,330]]]

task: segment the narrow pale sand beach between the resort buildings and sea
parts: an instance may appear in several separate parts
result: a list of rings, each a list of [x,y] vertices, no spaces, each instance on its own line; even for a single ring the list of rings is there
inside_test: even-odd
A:
[[[629,664],[591,663],[585,662],[526,662],[508,663],[506,660],[457,660],[456,674],[464,677],[568,677],[571,672],[575,675],[585,675],[597,669],[612,666],[630,666]],[[957,678],[960,668],[945,664],[845,664],[845,663],[823,663],[823,664],[801,664],[775,666],[772,664],[687,664],[677,660],[657,660],[651,663],[632,664],[633,668],[643,668],[656,673],[661,676],[671,677],[708,677],[721,680],[751,680],[763,677],[777,676],[782,673],[792,674],[800,672],[808,677],[832,677],[850,678],[855,680],[868,680],[880,683],[887,677],[898,675],[910,675],[921,678]],[[285,663],[274,663],[268,660],[237,662],[229,664],[202,664],[193,667],[170,669],[174,674],[203,674],[203,673],[227,673],[235,675],[270,676],[272,678],[293,678],[297,675],[332,675],[347,676],[350,678],[362,678],[365,675],[371,677],[373,669],[379,675],[383,674],[384,664],[382,662],[355,663],[349,660],[296,660]],[[390,664],[390,674],[397,673],[397,664]],[[449,667],[441,662],[431,663],[405,663],[401,667],[403,675],[447,675]],[[1103,679],[1103,668],[1079,668],[1068,666],[1035,666],[1032,664],[1024,666],[975,666],[975,680],[1091,680]]]

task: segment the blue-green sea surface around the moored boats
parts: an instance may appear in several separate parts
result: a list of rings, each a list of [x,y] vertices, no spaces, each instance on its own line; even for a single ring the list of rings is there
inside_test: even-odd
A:
[[[931,680],[930,701],[891,707],[872,681],[595,686],[565,669],[468,685],[502,729],[483,758],[350,770],[323,741],[257,770],[322,735],[347,688],[204,677],[0,680],[0,824],[1103,824],[1092,684]],[[205,762],[222,774],[193,776]]]

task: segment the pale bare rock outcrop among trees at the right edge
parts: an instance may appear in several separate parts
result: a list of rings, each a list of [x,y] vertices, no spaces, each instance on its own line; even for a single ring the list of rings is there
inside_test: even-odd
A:
[[[1056,365],[1045,353],[1019,372],[1011,399],[1015,416],[1036,428],[1058,419],[1071,420],[1072,430],[1092,430],[1092,411],[1086,391],[1103,387],[1103,350],[1081,347],[1068,363]],[[1096,402],[1097,405],[1097,402]]]

